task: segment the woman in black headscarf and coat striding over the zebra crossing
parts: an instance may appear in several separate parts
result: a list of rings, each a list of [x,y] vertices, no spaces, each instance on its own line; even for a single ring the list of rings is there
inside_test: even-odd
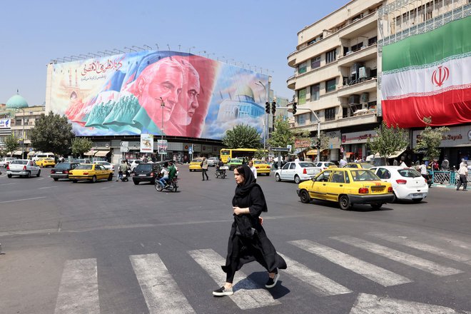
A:
[[[283,258],[276,253],[262,227],[260,214],[268,211],[262,188],[255,183],[252,171],[247,165],[234,169],[236,194],[232,199],[234,222],[228,243],[228,255],[223,271],[226,283],[213,291],[215,296],[233,295],[233,279],[237,270],[245,263],[257,260],[268,270],[266,288],[273,288],[280,275],[278,269],[286,269]]]

